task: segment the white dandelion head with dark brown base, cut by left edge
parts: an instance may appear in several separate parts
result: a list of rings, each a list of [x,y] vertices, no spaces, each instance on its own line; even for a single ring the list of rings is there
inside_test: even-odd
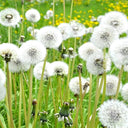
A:
[[[14,44],[0,44],[0,56],[2,56],[6,62],[15,60],[18,54],[18,50],[19,48]]]

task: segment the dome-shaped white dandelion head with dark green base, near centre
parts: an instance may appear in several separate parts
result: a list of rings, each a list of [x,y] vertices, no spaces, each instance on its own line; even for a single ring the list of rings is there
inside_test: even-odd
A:
[[[62,61],[54,61],[51,63],[53,67],[54,75],[67,75],[68,74],[68,65]]]

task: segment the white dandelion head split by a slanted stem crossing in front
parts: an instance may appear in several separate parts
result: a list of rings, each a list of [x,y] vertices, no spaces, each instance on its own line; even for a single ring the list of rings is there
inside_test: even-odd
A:
[[[34,74],[35,78],[38,80],[41,79],[43,65],[44,65],[44,62],[40,62],[40,63],[36,64],[34,67],[33,74]],[[47,79],[52,75],[53,75],[53,67],[52,67],[51,63],[46,62],[45,70],[44,70],[44,79]]]

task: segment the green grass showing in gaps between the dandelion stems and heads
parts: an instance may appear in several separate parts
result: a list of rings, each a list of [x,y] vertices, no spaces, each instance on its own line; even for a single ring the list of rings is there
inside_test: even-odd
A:
[[[49,2],[46,2],[46,3],[30,3],[30,2],[25,2],[24,4],[24,8],[25,8],[25,12],[30,9],[30,8],[36,8],[40,13],[41,13],[41,20],[35,24],[35,28],[41,28],[41,27],[44,27],[46,25],[52,25],[52,24],[49,24],[49,22],[52,22],[52,19],[49,19],[49,20],[45,20],[43,18],[43,16],[45,15],[46,11],[49,10],[49,9],[52,9],[52,5],[50,4],[50,1]],[[122,2],[122,3],[128,3],[127,1],[120,1],[120,0],[116,0],[116,1],[113,1],[113,0],[109,0],[109,1],[102,1],[100,0],[99,2],[96,1],[96,0],[91,0],[90,3],[88,5],[86,5],[86,2],[83,0],[83,4],[81,5],[74,5],[73,6],[73,12],[72,12],[72,18],[71,19],[78,19],[81,23],[83,23],[86,27],[95,27],[96,25],[98,24],[95,24],[95,23],[92,23],[90,22],[90,19],[92,16],[94,17],[98,17],[99,15],[103,15],[105,14],[106,12],[108,12],[110,9],[111,10],[117,10],[117,8],[115,7],[110,7],[110,4],[113,3],[114,6],[119,6],[122,10],[122,12],[124,12],[126,14],[127,10],[128,9],[125,9],[125,7],[122,6],[122,4],[119,4],[118,5],[118,2]],[[60,21],[63,21],[63,16],[61,15],[63,13],[63,3],[61,2],[56,2],[55,3],[56,6],[55,6],[55,26],[57,26],[57,23],[59,24]],[[4,8],[7,8],[7,7],[12,7],[12,8],[16,8],[20,14],[22,14],[22,10],[21,10],[21,2],[19,0],[16,1],[16,4],[15,4],[15,1],[14,0],[0,0],[0,10],[3,10]],[[67,2],[66,3],[66,22],[69,22],[70,21],[70,8],[71,8],[71,3],[70,2]],[[56,16],[58,15],[58,16]],[[80,15],[80,17],[78,17],[78,15]],[[128,15],[128,13],[126,14]],[[86,21],[86,22],[85,22]],[[24,19],[24,31],[23,31],[23,35],[25,36],[25,41],[29,40],[29,39],[32,39],[32,36],[30,35],[30,33],[27,32],[27,27],[28,26],[31,26],[31,23],[29,21],[27,21],[26,19]],[[17,44],[19,45],[18,43],[18,40],[19,40],[19,37],[20,37],[20,30],[21,30],[21,27],[19,28],[12,28],[11,31],[11,42],[14,43],[14,44]],[[0,25],[0,35],[1,35],[1,39],[0,39],[0,42],[1,43],[6,43],[8,41],[8,37],[7,37],[7,27],[4,27],[2,25]],[[90,35],[91,34],[88,34],[88,35],[85,35],[83,37],[83,39],[81,40],[81,44],[83,44],[84,42],[87,42],[89,41],[89,38],[90,38]],[[73,47],[74,46],[74,39],[69,39],[71,44],[70,44],[70,47]],[[78,38],[77,39],[77,50],[80,46],[80,43],[79,43],[80,39]],[[65,41],[64,42],[64,45],[65,47],[68,49],[68,41]],[[54,53],[55,52],[55,53]],[[48,52],[48,62],[53,62],[53,57],[55,57],[55,60],[59,60],[58,58],[60,58],[60,55],[61,53],[59,53],[58,51],[56,50],[50,50]],[[65,59],[64,62],[66,63],[69,63],[69,59]],[[82,72],[82,76],[87,78],[89,77],[89,73],[87,72],[86,70],[86,67],[85,67],[85,62],[80,59],[78,56],[76,57],[76,61],[75,61],[75,66],[74,66],[74,72],[73,72],[73,77],[74,76],[78,76],[78,71],[77,71],[77,66],[79,63],[82,63],[83,64],[83,72]],[[112,66],[114,67],[114,65]],[[2,62],[2,59],[0,59],[0,68],[3,68],[3,62]],[[118,74],[119,70],[115,69],[112,73],[114,74]],[[28,72],[25,73],[25,76],[26,76],[26,79],[28,80],[28,76],[27,76]],[[17,101],[19,102],[19,74],[15,74],[16,76],[16,89],[17,89]],[[123,74],[123,83],[126,83],[127,82],[127,78],[126,78],[126,73]],[[52,79],[52,86],[53,86],[53,90],[54,90],[54,95],[57,97],[57,92],[56,92],[56,88],[57,88],[57,76],[54,76],[51,78]],[[91,100],[91,112],[93,111],[93,107],[94,107],[94,104],[95,104],[95,90],[96,90],[96,79],[97,79],[97,76],[93,76],[93,83],[92,83],[92,86],[93,86],[93,91],[92,91],[92,100]],[[67,77],[63,77],[62,78],[62,81],[64,81],[63,85],[62,85],[62,90],[65,89],[66,87],[66,82],[67,82]],[[35,80],[35,78],[33,78],[33,99],[34,98],[37,98],[37,90],[36,90],[36,87],[38,86],[39,87],[39,81],[38,80]],[[44,85],[43,85],[43,95],[46,97],[46,91],[47,91],[47,85],[48,85],[48,81],[44,81],[43,82]],[[25,88],[25,98],[26,98],[26,108],[28,107],[28,98],[29,98],[29,95],[28,95],[28,87],[27,85],[25,84],[24,82],[24,88]],[[15,107],[15,97],[14,97],[14,90],[12,91],[13,95],[12,95],[12,108],[13,108],[13,118],[14,118],[14,123],[16,124],[16,127],[18,126],[18,102],[17,102],[17,107]],[[74,98],[74,95],[73,93],[70,92],[70,98],[73,98],[74,101],[75,101],[75,104],[74,106],[76,106],[76,98]],[[84,100],[83,100],[83,117],[84,117],[84,124],[86,124],[86,121],[87,121],[87,110],[88,110],[88,97],[89,95],[86,94],[85,97],[84,97]],[[121,97],[119,97],[121,99]],[[42,98],[43,99],[43,98]],[[106,99],[108,99],[106,97]],[[121,99],[122,100],[122,99]],[[101,101],[101,97],[100,97],[100,100]],[[100,102],[98,104],[98,106],[100,105]],[[58,104],[59,107],[61,107],[61,104],[59,103]],[[42,102],[42,107],[41,107],[41,111],[45,111],[45,102],[43,101]],[[59,108],[57,108],[57,112],[59,112]],[[49,91],[49,99],[48,99],[48,115],[47,115],[47,119],[48,119],[48,122],[45,123],[44,125],[40,125],[40,121],[38,119],[37,121],[37,128],[38,127],[46,127],[46,128],[54,128],[55,127],[55,116],[54,116],[54,107],[53,107],[53,102],[52,102],[52,93],[51,93],[51,90]],[[7,125],[7,109],[6,109],[6,105],[5,105],[5,101],[1,101],[0,102],[0,113],[1,115],[3,116],[4,118],[4,121],[5,121],[5,124]],[[74,118],[75,117],[75,112],[73,113],[72,117]],[[24,113],[23,113],[23,106],[22,106],[22,110],[21,110],[21,119],[22,119],[22,123],[21,123],[21,126],[22,128],[25,128],[25,122],[24,122]],[[31,119],[31,122],[32,122],[33,119]],[[78,124],[79,124],[79,128],[81,128],[81,119],[80,119],[80,113],[79,113],[79,116],[78,116]],[[57,123],[58,125],[58,128],[61,128],[63,127],[63,122],[58,122]],[[98,127],[97,128],[101,128],[101,124],[99,123],[98,124]]]

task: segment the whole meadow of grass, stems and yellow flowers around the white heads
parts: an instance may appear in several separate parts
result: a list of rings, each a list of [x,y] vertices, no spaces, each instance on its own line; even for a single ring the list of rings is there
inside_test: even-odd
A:
[[[125,65],[119,69],[112,62],[111,70],[95,75],[87,70],[86,61],[80,57],[78,51],[80,46],[90,41],[93,29],[99,25],[98,16],[111,11],[119,11],[128,18],[128,1],[44,0],[44,2],[41,2],[41,0],[34,0],[31,2],[29,0],[0,0],[0,11],[6,8],[16,9],[22,20],[15,27],[0,24],[0,47],[1,44],[7,42],[21,47],[25,42],[35,40],[34,29],[45,26],[57,27],[72,20],[84,25],[85,28],[90,28],[90,32],[80,37],[70,37],[63,40],[58,48],[47,48],[47,55],[43,58],[44,64],[40,69],[40,80],[35,78],[33,74],[35,63],[31,64],[30,69],[26,72],[11,72],[8,69],[9,62],[4,60],[5,58],[0,52],[0,69],[6,75],[6,82],[4,83],[6,96],[0,101],[0,127],[109,128],[99,120],[98,108],[100,105],[112,99],[118,99],[126,105],[128,104],[119,93],[119,88],[114,96],[105,96],[106,75],[116,75],[119,78],[118,85],[120,82],[122,82],[122,85],[126,84],[128,73],[123,71]],[[27,20],[25,13],[31,8],[39,11],[40,20],[38,22],[32,23]],[[53,16],[45,18],[48,10],[53,11]],[[29,27],[32,27],[32,33],[28,31]],[[127,34],[128,31],[127,33],[123,32],[119,37],[127,37]],[[107,53],[108,48],[104,50],[104,56]],[[107,66],[107,63],[105,57],[103,59],[104,67],[104,65]],[[23,60],[27,61],[27,57],[24,56]],[[65,62],[68,65],[68,71],[65,71],[64,74],[59,74],[60,71],[56,71],[54,75],[44,79],[46,62],[53,63],[55,61]],[[55,66],[59,68],[59,63]],[[106,67],[104,68],[106,69]],[[69,88],[70,80],[74,77],[78,77],[78,85],[80,86],[77,90],[79,94],[76,95]],[[82,92],[82,77],[87,80],[84,93]],[[1,79],[0,76],[0,81],[2,81]],[[103,94],[100,94],[103,83]],[[88,93],[86,93],[87,88],[89,88]],[[0,93],[1,96],[2,92],[0,91]],[[126,127],[113,126],[110,128]]]

